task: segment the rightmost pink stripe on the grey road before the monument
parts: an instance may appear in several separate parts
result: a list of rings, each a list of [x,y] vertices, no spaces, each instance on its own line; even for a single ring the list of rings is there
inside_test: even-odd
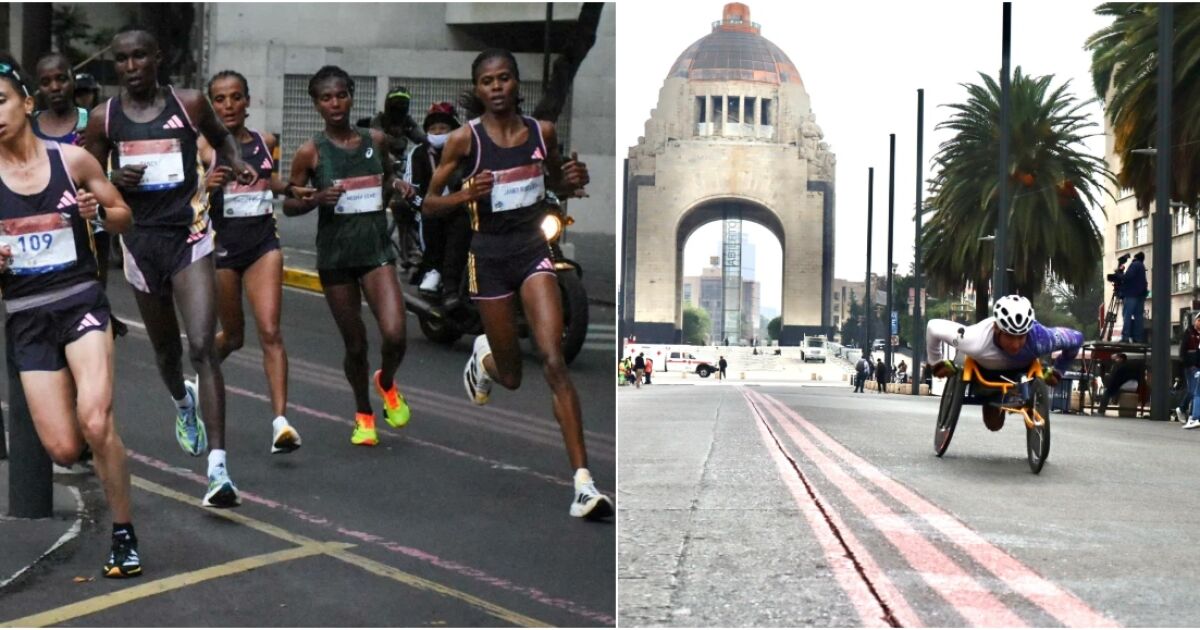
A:
[[[767,398],[769,396],[761,395]],[[886,473],[872,466],[870,462],[854,455],[842,446],[838,440],[821,431],[812,422],[805,420],[800,414],[790,409],[775,398],[770,398],[784,413],[798,426],[815,437],[830,452],[840,457],[857,470],[864,479],[871,481],[881,490],[902,503],[914,514],[924,518],[935,529],[942,533],[950,542],[961,547],[968,556],[989,572],[1008,584],[1013,592],[1028,599],[1039,608],[1058,619],[1067,626],[1085,628],[1116,628],[1115,620],[1096,612],[1085,601],[1058,587],[1054,582],[1042,577],[1033,569],[1013,558],[1003,550],[988,542],[977,532],[968,528],[962,521],[950,516],[941,508],[934,505],[924,497],[895,481]]]

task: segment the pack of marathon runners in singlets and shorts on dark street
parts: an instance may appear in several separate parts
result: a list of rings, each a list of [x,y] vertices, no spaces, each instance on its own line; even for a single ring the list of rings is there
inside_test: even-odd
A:
[[[204,92],[161,85],[158,42],[140,29],[116,34],[112,52],[120,94],[90,112],[74,106],[77,84],[61,55],[41,59],[32,82],[0,58],[0,292],[22,385],[37,392],[28,396],[37,434],[55,463],[73,463],[85,448],[95,454],[113,512],[103,575],[131,577],[142,563],[113,420],[116,322],[103,286],[107,234],[121,234],[125,276],[175,403],[176,440],[188,455],[208,456],[202,504],[233,508],[240,497],[227,464],[221,362],[244,343],[244,287],[271,391],[271,452],[301,445],[286,418],[283,259],[272,200],[284,198],[287,216],[318,211],[317,270],[354,392],[350,442],[376,445],[371,385],[390,426],[412,416],[396,382],[406,318],[384,210],[394,196],[412,199],[414,188],[391,172],[388,137],[352,126],[354,80],[342,68],[322,67],[310,80],[324,130],[296,150],[284,180],[277,139],[245,125],[245,77],[218,72]],[[468,216],[474,232],[467,274],[485,335],[475,340],[463,384],[476,404],[488,402],[492,383],[520,386],[520,299],[574,470],[570,514],[607,517],[612,502],[587,468],[580,400],[560,347],[562,304],[540,230],[547,192],[582,194],[587,167],[563,160],[552,124],[521,114],[511,54],[485,50],[472,79],[476,118],[458,127],[445,106],[432,116],[445,125],[432,128],[443,143],[430,155],[440,160],[430,162],[420,208],[434,222]],[[35,108],[34,85],[43,110]],[[451,181],[460,168],[467,173],[461,185]],[[364,298],[383,340],[380,368],[370,378]],[[194,379],[184,376],[180,319]]]

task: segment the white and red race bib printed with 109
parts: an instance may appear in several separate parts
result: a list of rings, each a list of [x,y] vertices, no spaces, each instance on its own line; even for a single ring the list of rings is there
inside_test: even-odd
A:
[[[18,276],[49,274],[76,263],[74,233],[66,214],[0,221],[0,245],[12,250],[8,269]]]

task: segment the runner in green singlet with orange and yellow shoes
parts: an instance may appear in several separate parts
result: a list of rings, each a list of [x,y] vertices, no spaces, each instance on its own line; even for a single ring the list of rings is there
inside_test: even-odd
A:
[[[318,210],[317,272],[325,301],[346,344],[342,368],[354,390],[352,444],[379,443],[367,385],[367,331],[362,298],[379,323],[383,337],[376,391],[383,398],[384,418],[392,427],[408,424],[409,408],[395,382],[404,359],[404,298],[396,278],[396,254],[388,239],[384,209],[394,192],[412,196],[396,179],[386,158],[386,137],[378,130],[350,126],[354,80],[337,66],[325,66],[308,80],[308,95],[325,121],[323,132],[304,143],[292,160],[283,203],[288,216]],[[295,198],[296,188],[312,182],[318,192]]]

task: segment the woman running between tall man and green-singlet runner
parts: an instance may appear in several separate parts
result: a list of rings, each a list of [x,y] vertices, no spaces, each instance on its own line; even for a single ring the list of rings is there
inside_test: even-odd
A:
[[[278,142],[270,133],[246,128],[250,86],[246,77],[226,70],[209,80],[209,100],[229,133],[241,148],[241,158],[258,172],[258,181],[242,186],[216,151],[199,139],[200,163],[208,168],[204,187],[209,191],[212,226],[217,232],[217,355],[222,361],[244,343],[246,320],[241,310],[241,286],[254,311],[258,343],[263,348],[263,368],[271,388],[271,452],[292,452],[300,448],[300,433],[284,416],[288,406],[288,355],[283,350],[280,329],[280,305],[283,301],[283,254],[276,232],[271,200],[283,192],[275,167]],[[307,194],[310,191],[304,191]]]

